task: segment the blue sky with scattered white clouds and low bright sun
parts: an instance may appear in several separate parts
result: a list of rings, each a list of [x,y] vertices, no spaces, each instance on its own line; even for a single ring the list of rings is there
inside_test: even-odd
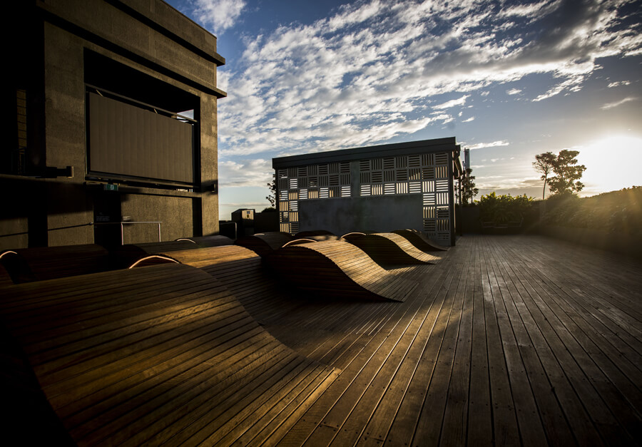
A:
[[[563,149],[580,195],[642,185],[642,1],[168,3],[226,59],[221,220],[268,206],[274,157],[453,136],[478,200],[541,198],[534,156]]]

